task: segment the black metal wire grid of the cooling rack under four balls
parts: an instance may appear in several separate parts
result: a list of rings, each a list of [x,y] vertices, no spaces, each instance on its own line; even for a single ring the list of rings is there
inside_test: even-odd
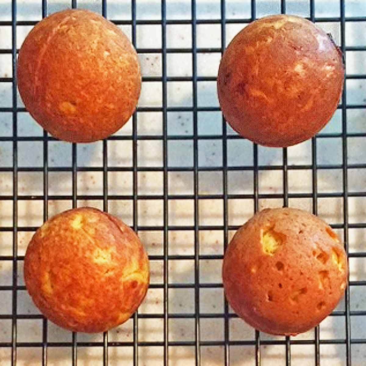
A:
[[[345,26],[348,20],[352,20],[354,22],[357,21],[366,21],[366,16],[352,17],[346,18],[345,16],[345,0],[339,1],[340,7],[340,17],[335,18],[315,18],[315,0],[310,0],[310,20],[312,21],[322,21],[322,22],[339,22],[340,23],[340,44],[343,54],[346,55],[346,51],[363,51],[366,52],[365,46],[356,46],[356,47],[346,47],[345,44]],[[121,167],[111,167],[108,166],[108,158],[107,158],[107,140],[103,141],[103,166],[102,168],[84,168],[78,167],[77,162],[77,154],[76,154],[76,145],[72,144],[72,167],[71,168],[54,168],[49,167],[48,165],[48,142],[52,140],[52,137],[49,137],[46,132],[43,133],[43,137],[19,137],[17,132],[17,116],[18,112],[25,111],[24,108],[19,108],[17,106],[17,92],[16,92],[16,26],[17,25],[34,25],[36,22],[31,21],[17,21],[16,13],[17,6],[16,1],[12,0],[12,20],[11,22],[0,22],[0,25],[11,25],[12,27],[12,49],[1,49],[0,53],[11,53],[12,55],[12,78],[1,78],[0,82],[11,82],[12,83],[12,108],[0,108],[0,113],[2,112],[11,112],[12,113],[12,137],[0,137],[0,141],[11,141],[13,142],[13,167],[12,168],[4,168],[0,167],[0,172],[10,171],[13,173],[13,194],[10,195],[0,195],[1,200],[11,200],[13,202],[13,222],[14,227],[0,227],[0,231],[9,231],[12,232],[13,238],[13,255],[11,256],[1,256],[1,261],[12,261],[12,280],[13,284],[8,286],[0,286],[0,296],[2,290],[11,290],[12,291],[12,313],[0,315],[1,319],[10,319],[12,321],[12,338],[9,343],[0,343],[0,347],[10,347],[11,348],[11,365],[16,365],[17,363],[17,347],[42,347],[42,365],[47,365],[47,349],[48,347],[71,347],[72,348],[72,365],[77,364],[77,352],[79,346],[102,346],[103,347],[103,365],[108,365],[108,349],[110,347],[124,347],[124,346],[132,346],[133,347],[133,364],[138,365],[138,347],[140,346],[162,346],[164,349],[164,365],[169,365],[171,362],[168,358],[168,347],[169,346],[194,346],[195,347],[195,364],[201,364],[201,346],[223,346],[224,347],[224,365],[230,365],[229,358],[229,348],[235,345],[254,345],[255,346],[255,354],[253,355],[253,363],[255,365],[261,365],[261,345],[263,344],[281,344],[285,345],[285,363],[286,365],[291,365],[291,346],[293,344],[309,344],[313,345],[315,348],[315,365],[320,365],[320,345],[321,344],[344,344],[346,348],[346,365],[351,366],[351,344],[365,344],[366,347],[366,339],[351,339],[351,327],[350,327],[350,317],[351,315],[362,315],[366,316],[365,311],[350,311],[350,286],[365,286],[366,281],[351,281],[350,286],[347,287],[345,294],[345,310],[344,311],[334,311],[334,316],[340,316],[345,318],[346,324],[346,337],[345,339],[331,339],[331,340],[321,340],[319,327],[315,329],[315,336],[313,340],[296,340],[291,337],[286,337],[283,340],[263,340],[258,331],[255,332],[255,340],[253,341],[232,341],[229,340],[229,318],[235,317],[234,314],[229,313],[228,304],[225,301],[224,305],[224,314],[211,314],[211,313],[201,313],[200,312],[200,302],[199,302],[199,292],[201,288],[215,288],[222,287],[222,284],[202,284],[199,283],[199,260],[200,259],[222,259],[222,255],[200,255],[199,254],[199,230],[202,229],[220,229],[223,230],[224,233],[224,247],[228,244],[228,233],[229,230],[235,230],[238,227],[228,224],[228,199],[229,198],[250,198],[254,200],[254,210],[258,210],[259,199],[262,198],[280,198],[283,199],[283,205],[287,206],[289,198],[311,198],[313,202],[313,213],[317,214],[317,203],[318,198],[322,197],[341,197],[343,198],[343,222],[344,224],[336,224],[333,225],[334,228],[343,229],[343,239],[345,243],[346,250],[348,251],[348,228],[366,228],[365,223],[361,224],[349,224],[348,223],[348,197],[363,197],[365,196],[364,192],[352,192],[348,191],[347,184],[347,171],[348,168],[366,168],[366,164],[348,164],[347,161],[347,137],[356,137],[362,136],[365,137],[365,134],[355,133],[350,134],[347,133],[347,110],[352,108],[366,108],[366,105],[346,105],[346,87],[343,88],[342,94],[342,103],[339,106],[341,109],[341,117],[342,117],[342,132],[340,134],[322,134],[322,137],[341,137],[342,138],[342,149],[343,149],[343,160],[341,165],[319,165],[317,164],[317,138],[313,138],[311,141],[311,165],[288,165],[287,161],[287,149],[283,149],[283,164],[282,165],[259,165],[258,164],[258,146],[253,145],[253,165],[248,166],[240,166],[240,167],[228,167],[227,164],[227,142],[229,139],[238,138],[237,136],[228,135],[225,121],[222,121],[222,136],[217,135],[207,135],[200,136],[198,135],[197,128],[197,112],[198,111],[219,111],[219,108],[216,107],[207,107],[201,108],[198,107],[197,103],[197,82],[198,81],[214,81],[215,78],[210,77],[199,77],[197,75],[197,54],[200,52],[223,52],[225,48],[225,24],[232,23],[248,23],[254,20],[257,17],[256,9],[257,3],[256,0],[251,0],[251,17],[249,19],[226,19],[225,18],[225,0],[221,0],[221,19],[197,19],[196,18],[196,3],[195,0],[191,2],[191,20],[167,20],[166,15],[166,3],[165,0],[161,1],[161,20],[137,20],[136,19],[136,0],[131,0],[131,11],[132,11],[132,20],[131,21],[118,21],[116,20],[116,24],[124,25],[128,24],[132,26],[132,43],[136,45],[136,25],[137,24],[158,24],[161,25],[161,49],[137,49],[140,53],[161,53],[162,55],[162,76],[161,78],[152,78],[145,77],[143,81],[161,81],[162,82],[162,107],[161,108],[138,108],[137,112],[153,112],[159,111],[163,113],[163,135],[145,135],[141,136],[137,133],[137,119],[136,113],[132,117],[132,135],[131,136],[112,136],[109,140],[120,140],[120,139],[132,139],[133,141],[133,167],[132,168],[121,168]],[[77,1],[72,0],[72,7],[77,7]],[[285,13],[286,10],[286,1],[281,0],[281,13]],[[47,1],[42,0],[42,17],[47,15]],[[107,16],[107,0],[102,0],[102,15]],[[209,48],[209,49],[199,49],[196,44],[196,26],[197,24],[213,24],[217,23],[221,25],[221,48]],[[192,29],[192,48],[191,49],[168,49],[167,48],[167,37],[166,37],[166,27],[169,24],[189,24]],[[168,77],[167,76],[167,54],[168,53],[192,53],[193,64],[192,64],[192,77]],[[346,79],[363,79],[366,78],[366,75],[347,75]],[[192,108],[171,108],[168,107],[167,104],[167,82],[168,81],[191,81],[193,83],[193,107]],[[182,135],[168,135],[167,130],[167,113],[170,111],[191,111],[193,112],[193,135],[192,136],[182,136]],[[137,164],[137,141],[139,139],[162,139],[163,141],[163,167],[155,168],[155,167],[138,167]],[[184,140],[184,139],[193,139],[194,144],[194,163],[193,168],[187,167],[169,167],[168,166],[168,141],[169,140]],[[222,166],[220,167],[199,167],[198,164],[198,141],[199,139],[219,139],[222,141],[223,146],[223,161]],[[18,167],[18,149],[17,142],[18,141],[42,141],[43,142],[43,167],[30,167],[23,168]],[[332,168],[340,168],[342,169],[343,175],[343,193],[340,194],[320,194],[317,193],[317,170],[319,168],[322,169],[332,169]],[[283,172],[283,194],[259,194],[258,191],[258,175],[262,170],[269,169],[281,169]],[[312,183],[313,190],[312,193],[289,193],[288,187],[288,172],[292,169],[311,169],[312,172]],[[102,171],[103,174],[103,194],[102,196],[81,196],[77,194],[76,190],[76,177],[79,171]],[[138,171],[162,171],[163,172],[163,195],[149,195],[142,196],[138,195],[137,190],[137,174]],[[223,172],[223,194],[216,195],[199,195],[198,190],[198,172],[199,171],[221,171]],[[228,193],[228,171],[230,170],[238,170],[238,171],[252,171],[254,177],[254,191],[253,194],[229,194]],[[40,171],[43,172],[43,195],[39,196],[20,196],[18,193],[18,172],[29,172],[29,171]],[[50,196],[48,194],[48,173],[51,171],[71,171],[72,172],[72,195],[71,197],[65,197],[63,195]],[[132,171],[133,172],[133,195],[131,196],[117,196],[117,195],[109,195],[108,194],[108,172],[110,171]],[[193,195],[171,195],[168,194],[168,171],[193,171],[193,179],[194,179],[194,194]],[[40,315],[20,315],[17,314],[17,291],[25,290],[25,286],[21,286],[17,284],[17,268],[18,261],[22,261],[24,259],[23,256],[18,255],[18,232],[20,231],[35,231],[36,227],[19,227],[18,226],[18,201],[19,200],[32,200],[32,199],[42,199],[43,200],[43,219],[48,219],[48,201],[49,199],[72,199],[72,206],[76,207],[78,199],[102,199],[103,209],[108,209],[108,201],[112,199],[132,199],[133,200],[133,229],[135,231],[144,231],[151,230],[151,227],[142,227],[138,225],[138,210],[137,204],[141,199],[154,199],[159,198],[164,200],[163,205],[163,226],[156,227],[154,229],[163,231],[163,240],[164,240],[164,249],[163,255],[155,255],[150,256],[150,259],[160,259],[164,262],[163,267],[163,277],[164,283],[162,285],[155,284],[151,285],[150,288],[163,288],[164,293],[164,314],[134,314],[133,315],[133,341],[132,342],[112,342],[108,339],[108,333],[103,334],[103,340],[101,342],[78,342],[77,335],[75,333],[72,334],[71,342],[49,342],[48,341],[48,327],[47,320],[42,318]],[[179,227],[180,230],[194,230],[194,255],[169,255],[168,253],[168,232],[172,229],[177,229],[172,225],[168,225],[168,199],[193,199],[194,200],[194,225],[189,227]],[[219,226],[209,226],[209,225],[199,225],[198,221],[198,200],[199,199],[215,199],[220,198],[223,199],[223,225]],[[350,257],[366,257],[366,252],[357,252],[357,253],[349,253]],[[194,260],[194,284],[169,284],[168,283],[168,259],[193,259]],[[168,288],[184,288],[191,287],[194,288],[195,293],[195,306],[194,306],[194,314],[169,314],[168,312]],[[153,317],[162,317],[164,322],[164,339],[163,341],[156,342],[141,342],[138,341],[138,320],[140,318],[153,318]],[[195,341],[170,341],[168,339],[168,318],[194,318],[195,321]],[[224,318],[224,341],[201,341],[200,340],[200,319],[202,318],[213,318],[213,317],[223,317]],[[17,320],[18,319],[43,319],[43,333],[42,333],[42,342],[34,343],[34,342],[22,342],[17,341]]]

